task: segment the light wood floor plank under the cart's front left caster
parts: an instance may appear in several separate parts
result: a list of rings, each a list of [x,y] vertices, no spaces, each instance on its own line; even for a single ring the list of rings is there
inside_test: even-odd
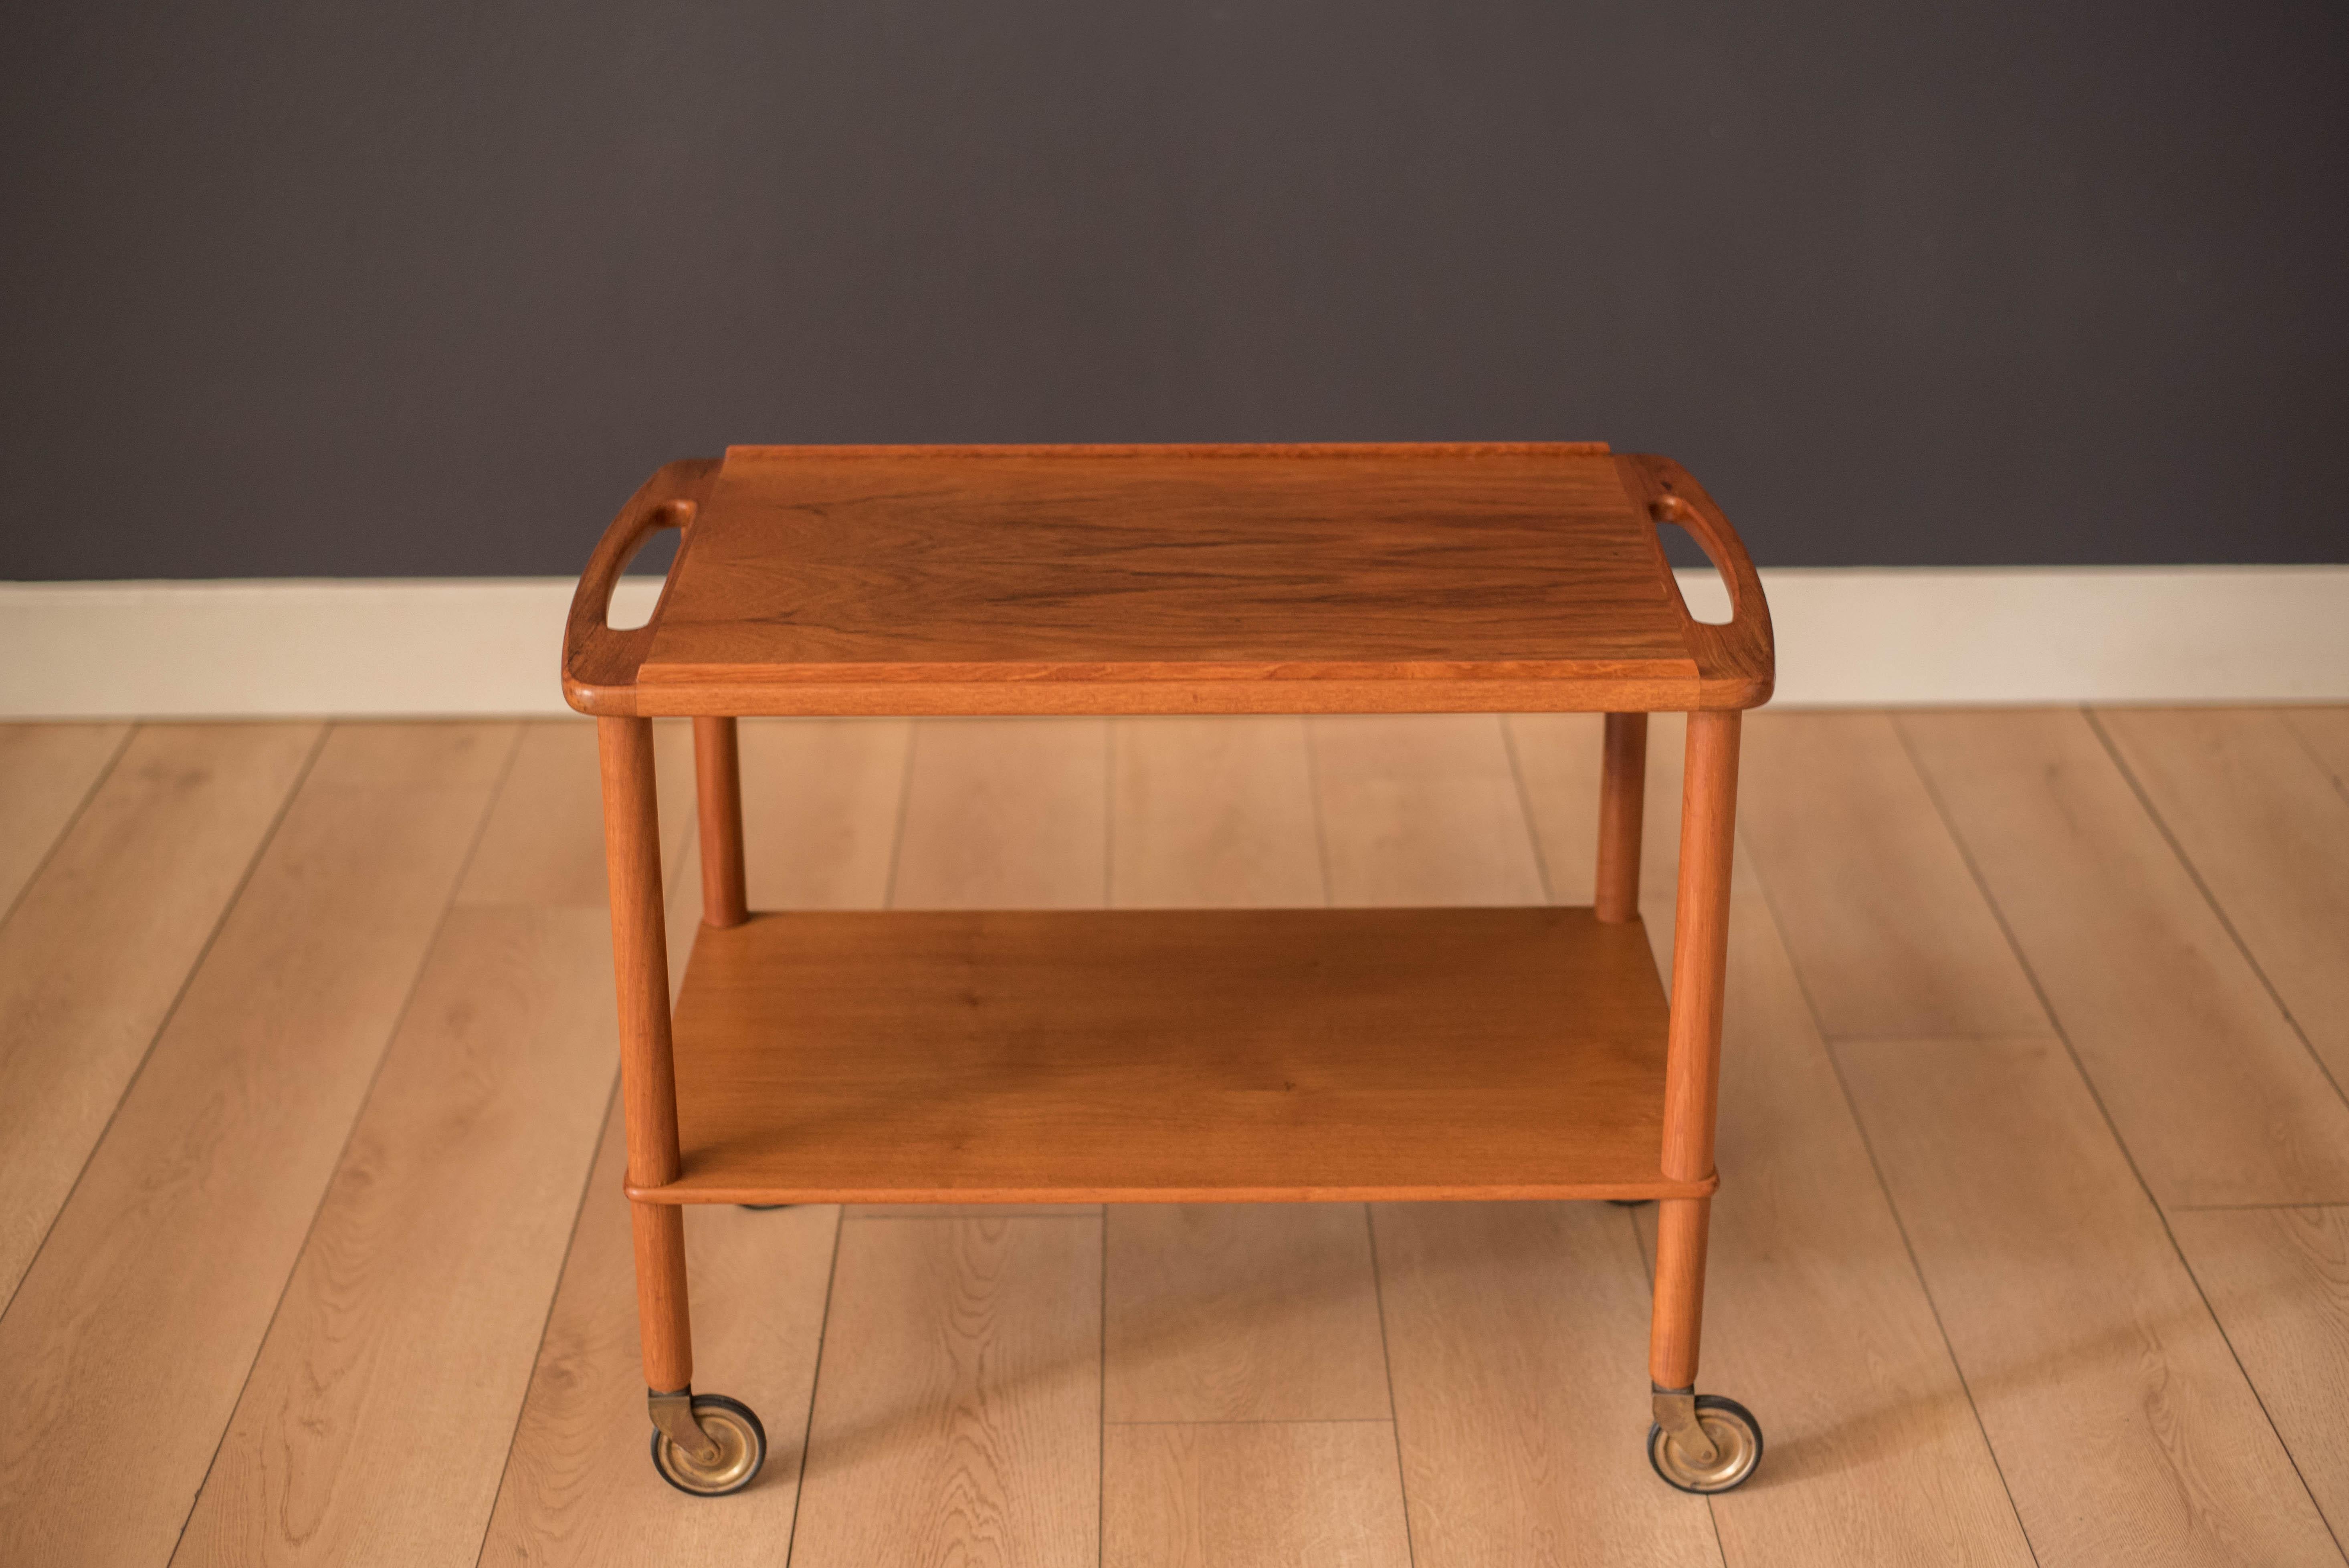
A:
[[[625,1171],[625,1124],[613,1103],[482,1563],[780,1563],[799,1507],[841,1211],[686,1211],[693,1385],[747,1404],[768,1441],[759,1481],[712,1502],[665,1486],[646,1458]]]

